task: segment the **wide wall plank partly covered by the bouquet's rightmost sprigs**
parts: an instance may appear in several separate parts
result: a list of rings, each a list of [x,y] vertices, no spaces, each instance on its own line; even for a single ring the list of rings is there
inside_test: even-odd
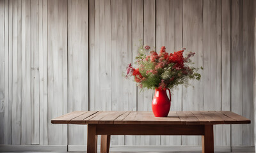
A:
[[[195,52],[194,66],[203,65],[203,1],[183,1],[183,46]],[[202,71],[198,71],[202,74]],[[192,86],[182,87],[182,110],[204,110],[204,77],[191,81]],[[182,145],[200,145],[199,136],[182,136]]]

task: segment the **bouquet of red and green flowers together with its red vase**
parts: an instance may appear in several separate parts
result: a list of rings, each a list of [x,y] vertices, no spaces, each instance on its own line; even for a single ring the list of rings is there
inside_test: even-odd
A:
[[[185,49],[168,54],[163,46],[157,54],[154,50],[150,50],[148,45],[141,45],[136,56],[136,66],[133,67],[132,64],[127,66],[125,78],[134,80],[141,89],[155,90],[152,110],[156,117],[167,116],[170,110],[170,99],[166,90],[170,94],[170,89],[178,85],[187,87],[190,79],[200,80],[201,75],[197,73],[199,68],[193,67],[194,63],[190,59],[195,53],[188,52],[184,56]]]

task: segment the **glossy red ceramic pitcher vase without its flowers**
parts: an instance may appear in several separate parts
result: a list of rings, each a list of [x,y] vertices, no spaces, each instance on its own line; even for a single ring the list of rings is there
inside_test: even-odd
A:
[[[169,91],[170,99],[166,94]],[[152,100],[152,110],[155,117],[167,117],[171,107],[171,92],[170,89],[155,89],[155,96]]]

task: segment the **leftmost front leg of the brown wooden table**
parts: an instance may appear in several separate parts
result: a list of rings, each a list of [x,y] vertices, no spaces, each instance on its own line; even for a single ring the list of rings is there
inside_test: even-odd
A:
[[[88,124],[87,152],[97,152],[96,126]]]

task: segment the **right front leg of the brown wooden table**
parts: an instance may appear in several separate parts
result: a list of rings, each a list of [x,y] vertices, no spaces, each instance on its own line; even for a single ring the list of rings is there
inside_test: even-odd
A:
[[[202,136],[202,152],[214,152],[213,125],[204,126],[204,135]]]

